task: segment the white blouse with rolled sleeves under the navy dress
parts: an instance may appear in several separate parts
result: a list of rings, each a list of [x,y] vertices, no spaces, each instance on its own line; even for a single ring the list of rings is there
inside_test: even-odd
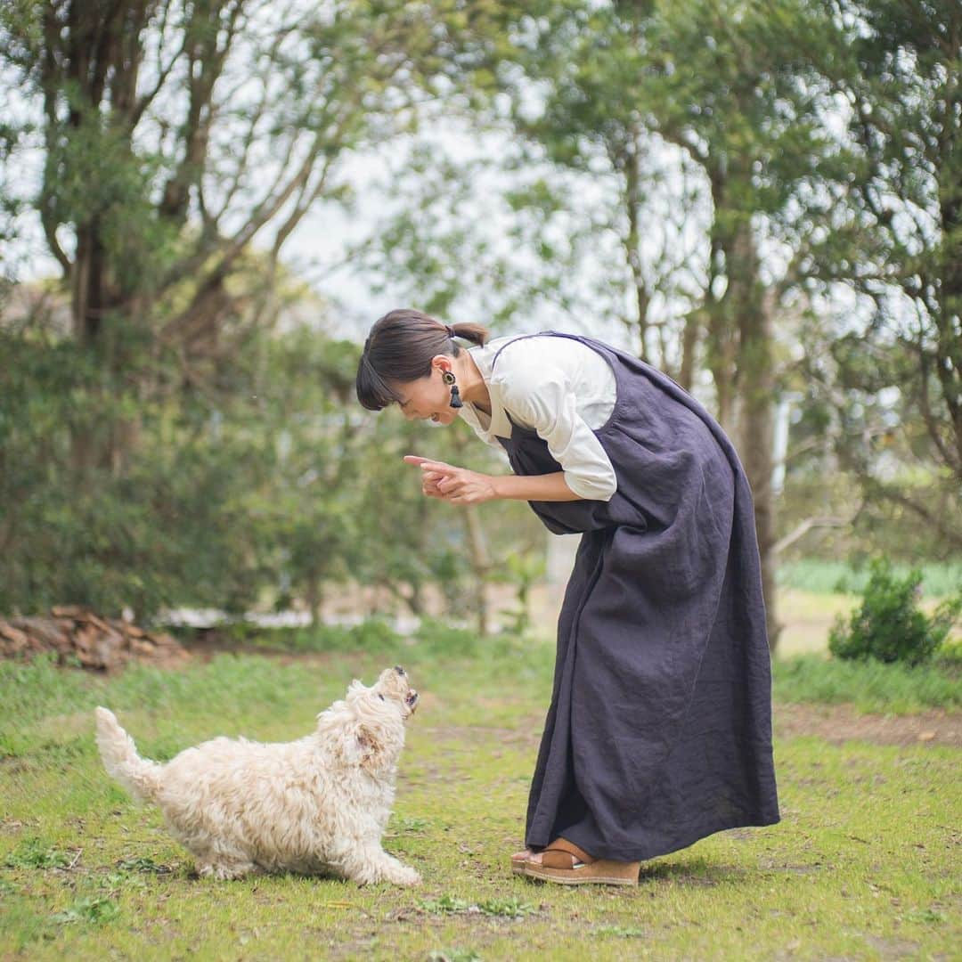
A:
[[[511,437],[507,413],[547,443],[574,494],[608,501],[618,487],[615,468],[593,429],[615,408],[615,374],[587,344],[570,338],[512,337],[468,347],[491,396],[491,417],[466,402],[459,409],[477,436],[503,450],[497,438]]]

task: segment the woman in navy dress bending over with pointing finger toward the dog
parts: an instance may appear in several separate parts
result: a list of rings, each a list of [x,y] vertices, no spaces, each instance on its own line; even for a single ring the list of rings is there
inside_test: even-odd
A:
[[[357,393],[369,410],[465,418],[514,470],[406,457],[424,494],[521,498],[548,530],[581,533],[514,871],[634,884],[643,859],[778,822],[751,493],[704,408],[592,338],[489,342],[412,310],[372,327]]]

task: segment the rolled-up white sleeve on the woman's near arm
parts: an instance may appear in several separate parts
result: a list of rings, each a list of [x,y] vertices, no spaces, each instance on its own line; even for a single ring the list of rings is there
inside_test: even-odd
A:
[[[595,432],[578,415],[564,371],[541,367],[537,375],[530,369],[521,376],[503,373],[506,376],[498,380],[505,410],[544,440],[571,491],[593,501],[610,500],[618,488],[615,468]]]

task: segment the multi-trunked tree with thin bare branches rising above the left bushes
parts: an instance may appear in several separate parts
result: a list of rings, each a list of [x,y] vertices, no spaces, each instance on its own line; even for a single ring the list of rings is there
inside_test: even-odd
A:
[[[352,0],[4,8],[0,57],[35,114],[5,160],[42,156],[43,236],[76,346],[115,382],[104,391],[142,400],[210,380],[266,321],[273,272],[244,283],[252,243],[276,266],[312,205],[344,196],[351,151],[410,120],[445,67],[435,13]],[[162,358],[172,383],[151,376]],[[121,470],[138,430],[134,414],[75,432],[78,476]]]

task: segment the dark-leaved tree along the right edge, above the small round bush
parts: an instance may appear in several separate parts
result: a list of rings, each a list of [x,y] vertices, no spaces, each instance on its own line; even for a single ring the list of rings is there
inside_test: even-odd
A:
[[[847,391],[889,396],[847,467],[874,510],[962,547],[962,8],[954,0],[824,0],[811,49],[835,97],[839,156],[795,267],[855,309],[831,354]],[[838,124],[837,124],[838,125]],[[837,296],[837,293],[836,293]],[[897,401],[891,398],[898,397]],[[845,393],[823,392],[837,411]],[[896,417],[893,418],[893,413]],[[905,468],[893,472],[898,455]]]

